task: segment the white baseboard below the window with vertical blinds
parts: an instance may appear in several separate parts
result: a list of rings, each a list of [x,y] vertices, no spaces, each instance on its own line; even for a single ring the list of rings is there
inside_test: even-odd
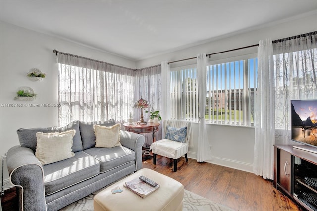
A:
[[[191,159],[197,159],[197,153],[188,151],[187,157]],[[245,162],[239,162],[236,160],[230,160],[230,159],[218,158],[218,157],[212,157],[211,161],[206,161],[206,162],[253,173],[253,170],[252,170],[253,165],[249,163],[245,163]]]

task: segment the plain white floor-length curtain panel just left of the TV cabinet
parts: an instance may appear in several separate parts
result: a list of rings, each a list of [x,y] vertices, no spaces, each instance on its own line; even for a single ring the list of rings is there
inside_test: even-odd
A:
[[[258,47],[258,88],[255,101],[255,144],[253,172],[273,179],[274,153],[274,63],[270,39]]]

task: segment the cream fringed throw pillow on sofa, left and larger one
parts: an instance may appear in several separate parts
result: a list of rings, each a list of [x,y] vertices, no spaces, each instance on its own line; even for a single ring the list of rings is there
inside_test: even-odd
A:
[[[75,130],[62,133],[37,132],[36,158],[42,165],[46,165],[73,157],[75,153],[71,147],[75,133]]]

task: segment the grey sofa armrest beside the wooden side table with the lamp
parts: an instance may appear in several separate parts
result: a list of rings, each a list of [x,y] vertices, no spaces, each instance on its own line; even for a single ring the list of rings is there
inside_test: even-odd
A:
[[[123,146],[130,148],[135,152],[136,171],[142,168],[142,146],[144,136],[129,131],[120,131],[120,142]]]

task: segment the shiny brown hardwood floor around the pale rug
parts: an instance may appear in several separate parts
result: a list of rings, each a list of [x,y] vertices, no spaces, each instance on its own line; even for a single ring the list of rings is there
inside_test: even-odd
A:
[[[151,156],[143,157],[143,168],[165,174],[184,185],[188,191],[211,201],[226,205],[235,211],[303,211],[292,200],[273,187],[273,182],[252,173],[211,163],[186,162],[179,158],[177,172],[173,161],[157,156],[153,165]],[[1,197],[3,211],[14,211],[15,191]]]

